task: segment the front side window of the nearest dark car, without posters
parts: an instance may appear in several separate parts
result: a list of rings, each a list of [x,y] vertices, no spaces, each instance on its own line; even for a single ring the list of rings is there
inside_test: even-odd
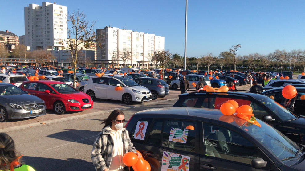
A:
[[[249,165],[258,157],[258,148],[233,130],[204,123],[203,131],[206,156]]]

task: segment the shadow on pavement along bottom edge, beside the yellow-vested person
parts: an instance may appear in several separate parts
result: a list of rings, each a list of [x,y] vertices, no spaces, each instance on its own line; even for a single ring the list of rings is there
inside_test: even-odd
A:
[[[67,160],[23,156],[22,163],[33,167],[35,170],[94,170],[92,162],[67,158]]]

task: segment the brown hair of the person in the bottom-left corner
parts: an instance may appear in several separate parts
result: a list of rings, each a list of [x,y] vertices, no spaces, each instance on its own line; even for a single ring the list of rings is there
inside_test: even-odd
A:
[[[14,140],[6,133],[0,133],[0,170],[9,170],[10,163],[18,157]],[[1,165],[6,164],[6,168]]]

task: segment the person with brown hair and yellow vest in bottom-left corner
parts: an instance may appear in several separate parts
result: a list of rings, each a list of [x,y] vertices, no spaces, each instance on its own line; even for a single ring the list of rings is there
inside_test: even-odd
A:
[[[14,140],[6,133],[0,133],[0,170],[1,171],[35,171],[31,166],[20,163]]]

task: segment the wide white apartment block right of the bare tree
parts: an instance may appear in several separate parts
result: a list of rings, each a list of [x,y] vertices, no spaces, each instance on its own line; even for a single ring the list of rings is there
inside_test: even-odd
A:
[[[112,58],[117,58],[118,51],[131,51],[131,59],[125,62],[125,67],[140,67],[140,63],[149,64],[147,57],[152,56],[155,51],[164,50],[164,37],[155,34],[105,27],[96,30],[96,37],[96,58],[103,61],[106,66],[110,66]],[[123,61],[118,60],[120,67],[123,67]]]

